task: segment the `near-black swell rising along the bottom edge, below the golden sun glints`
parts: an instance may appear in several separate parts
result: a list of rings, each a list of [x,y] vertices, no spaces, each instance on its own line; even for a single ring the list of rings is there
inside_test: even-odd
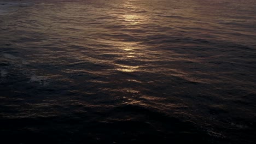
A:
[[[125,116],[130,118],[121,119]],[[212,143],[214,139],[191,122],[133,105],[71,116],[0,119],[0,123],[2,140],[8,143]]]

